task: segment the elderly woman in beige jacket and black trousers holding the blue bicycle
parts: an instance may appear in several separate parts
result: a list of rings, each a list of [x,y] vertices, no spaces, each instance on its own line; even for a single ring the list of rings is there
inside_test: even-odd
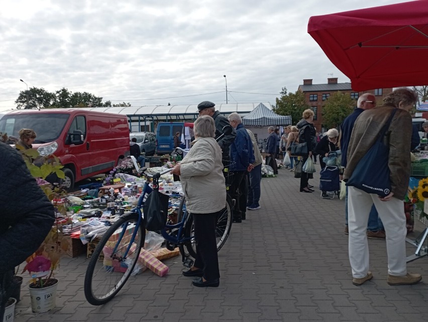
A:
[[[197,276],[192,283],[198,287],[220,284],[216,223],[226,204],[226,186],[222,149],[214,139],[215,133],[216,126],[210,116],[197,118],[192,148],[171,171],[180,176],[186,209],[192,214],[195,227],[196,258],[183,275]]]

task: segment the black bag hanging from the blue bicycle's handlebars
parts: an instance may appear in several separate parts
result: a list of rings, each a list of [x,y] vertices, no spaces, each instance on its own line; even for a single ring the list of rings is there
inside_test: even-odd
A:
[[[146,229],[149,232],[157,232],[165,228],[168,217],[169,196],[154,189],[147,196],[143,206]]]

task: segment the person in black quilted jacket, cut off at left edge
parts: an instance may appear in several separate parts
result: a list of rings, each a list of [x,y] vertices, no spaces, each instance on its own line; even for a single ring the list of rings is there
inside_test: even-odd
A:
[[[0,139],[0,316],[10,297],[15,267],[42,244],[55,220],[52,203],[21,154]]]

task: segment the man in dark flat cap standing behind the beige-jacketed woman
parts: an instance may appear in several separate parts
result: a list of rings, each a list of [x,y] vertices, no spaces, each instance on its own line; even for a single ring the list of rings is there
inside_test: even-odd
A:
[[[223,127],[226,125],[231,125],[229,123],[229,120],[220,114],[219,111],[216,111],[214,108],[216,106],[215,103],[210,102],[208,100],[204,100],[203,102],[200,102],[197,105],[197,110],[199,113],[199,116],[202,115],[209,115],[211,118],[214,119],[214,122],[216,124],[216,139],[223,134]],[[235,141],[236,138],[236,131],[233,130],[231,134],[225,135],[221,140],[219,140],[219,145],[222,148],[223,151],[223,160],[229,161],[230,160],[230,146]],[[225,166],[229,166],[228,162],[225,164]]]

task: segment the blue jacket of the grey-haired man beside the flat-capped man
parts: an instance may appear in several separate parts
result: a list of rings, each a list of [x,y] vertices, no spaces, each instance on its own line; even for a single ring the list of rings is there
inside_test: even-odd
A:
[[[253,143],[251,142],[247,130],[242,124],[239,124],[235,130],[236,139],[231,144],[232,164],[230,166],[230,169],[232,171],[247,171],[248,166],[254,163],[255,161],[253,153]]]

